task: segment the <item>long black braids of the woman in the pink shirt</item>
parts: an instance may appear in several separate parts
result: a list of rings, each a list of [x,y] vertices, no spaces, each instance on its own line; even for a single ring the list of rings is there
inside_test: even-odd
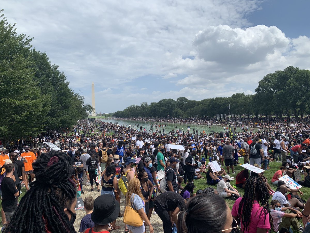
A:
[[[251,213],[254,204],[254,200],[257,198],[260,208],[263,208],[261,214],[264,215],[264,221],[269,213],[269,222],[272,226],[272,217],[269,209],[269,194],[265,182],[259,177],[253,176],[246,181],[246,187],[244,189],[244,196],[239,203],[238,219],[242,222],[242,231],[249,229],[251,222]]]

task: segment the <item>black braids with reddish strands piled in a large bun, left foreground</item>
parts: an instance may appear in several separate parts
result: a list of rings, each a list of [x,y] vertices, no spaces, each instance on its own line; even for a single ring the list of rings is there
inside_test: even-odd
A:
[[[64,212],[76,200],[69,159],[65,153],[52,150],[33,162],[36,180],[29,184],[30,190],[20,200],[4,232],[76,232]]]

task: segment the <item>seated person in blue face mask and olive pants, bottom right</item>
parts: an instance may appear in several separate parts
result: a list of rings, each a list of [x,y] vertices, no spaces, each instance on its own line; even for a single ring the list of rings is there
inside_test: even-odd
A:
[[[291,227],[296,231],[303,231],[296,217],[302,217],[302,213],[291,207],[281,207],[279,200],[274,199],[270,202],[270,215],[272,217],[273,231],[293,232]],[[284,229],[282,229],[284,228]]]

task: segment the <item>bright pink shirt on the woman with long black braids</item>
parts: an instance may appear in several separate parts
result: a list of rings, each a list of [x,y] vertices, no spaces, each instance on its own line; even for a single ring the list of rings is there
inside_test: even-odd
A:
[[[238,216],[238,209],[239,209],[239,204],[241,202],[242,198],[238,198],[236,202],[232,206],[232,216]],[[251,212],[251,222],[249,224],[248,229],[243,228],[242,221],[240,219],[240,225],[241,225],[241,230],[244,233],[254,233],[256,232],[257,228],[262,228],[266,229],[266,233],[268,233],[268,230],[270,229],[270,223],[269,223],[269,213],[265,215],[263,213],[263,208],[259,205],[257,201],[254,201],[253,207],[252,207],[252,212]]]

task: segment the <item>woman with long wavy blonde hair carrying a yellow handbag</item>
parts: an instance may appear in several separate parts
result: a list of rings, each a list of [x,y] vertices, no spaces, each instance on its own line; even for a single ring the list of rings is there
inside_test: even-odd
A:
[[[145,204],[144,204],[144,196],[142,195],[140,189],[140,181],[137,178],[134,178],[129,181],[128,189],[126,195],[126,206],[132,206],[135,210],[138,211],[139,215],[145,222],[147,226],[149,226],[150,233],[153,233],[153,226],[151,222],[148,220],[148,216],[145,214]],[[128,229],[132,233],[142,233],[145,232],[144,224],[142,226],[131,226],[127,225]]]

